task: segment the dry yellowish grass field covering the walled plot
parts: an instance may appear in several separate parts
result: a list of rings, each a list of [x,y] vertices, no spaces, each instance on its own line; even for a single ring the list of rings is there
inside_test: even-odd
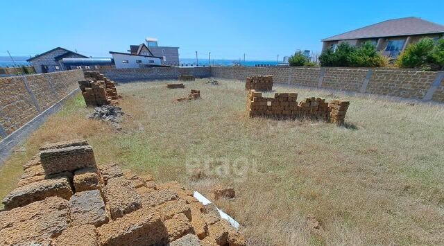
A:
[[[275,85],[278,92],[350,100],[347,127],[246,117],[244,84],[124,84],[117,132],[85,118],[83,98],[58,114],[0,168],[0,198],[42,143],[84,137],[100,164],[117,162],[204,194],[233,186],[216,204],[250,245],[443,245],[444,107]],[[201,100],[176,102],[190,89]],[[192,179],[200,167],[203,176]],[[319,226],[316,227],[316,221]],[[314,228],[316,227],[316,228]]]

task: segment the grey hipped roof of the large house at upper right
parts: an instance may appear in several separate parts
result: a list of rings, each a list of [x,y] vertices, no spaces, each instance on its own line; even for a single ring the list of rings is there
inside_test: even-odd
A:
[[[327,37],[321,41],[421,35],[430,33],[444,33],[444,26],[418,17],[406,17],[400,19],[388,19],[377,24],[351,30],[347,33]]]

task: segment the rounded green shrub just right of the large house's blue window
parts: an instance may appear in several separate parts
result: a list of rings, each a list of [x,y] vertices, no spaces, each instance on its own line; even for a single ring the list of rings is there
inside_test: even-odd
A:
[[[417,43],[409,44],[402,51],[396,60],[396,65],[404,68],[418,68],[423,71],[437,69],[436,64],[434,64],[433,50],[433,39],[429,37],[422,38]]]

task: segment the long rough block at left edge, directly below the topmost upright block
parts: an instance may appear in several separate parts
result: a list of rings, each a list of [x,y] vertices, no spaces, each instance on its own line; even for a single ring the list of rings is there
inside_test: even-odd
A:
[[[3,199],[6,209],[23,207],[31,202],[44,200],[46,197],[58,196],[66,200],[73,194],[66,177],[44,179],[39,182],[15,188]]]

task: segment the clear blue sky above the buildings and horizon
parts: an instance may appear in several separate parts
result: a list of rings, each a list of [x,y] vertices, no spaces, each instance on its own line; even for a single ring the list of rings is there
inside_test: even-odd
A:
[[[179,46],[181,58],[275,60],[321,39],[386,19],[444,24],[444,1],[4,1],[0,56],[56,46],[93,57],[129,49],[145,37]]]

